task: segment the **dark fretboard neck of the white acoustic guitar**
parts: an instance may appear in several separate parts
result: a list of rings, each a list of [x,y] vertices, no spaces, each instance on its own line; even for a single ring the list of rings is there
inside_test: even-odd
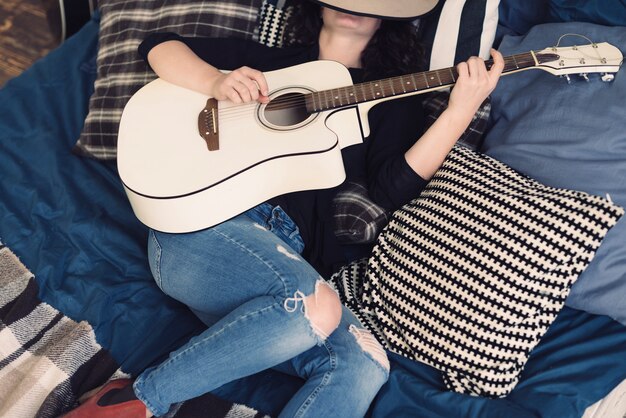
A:
[[[556,54],[535,54],[526,52],[511,55],[504,59],[503,74],[528,70],[542,62],[558,59]],[[485,61],[487,68],[491,68],[493,60]],[[339,109],[355,104],[389,100],[404,96],[426,93],[452,86],[458,79],[455,67],[440,70],[425,71],[407,74],[383,80],[369,81],[336,89],[309,93],[305,97],[306,108],[309,113]]]

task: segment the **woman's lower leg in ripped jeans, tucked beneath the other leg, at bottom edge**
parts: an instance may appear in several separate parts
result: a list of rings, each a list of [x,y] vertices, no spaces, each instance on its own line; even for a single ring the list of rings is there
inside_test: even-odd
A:
[[[373,335],[344,307],[339,327],[324,344],[274,369],[305,379],[280,418],[356,418],[365,415],[387,381],[389,361]]]

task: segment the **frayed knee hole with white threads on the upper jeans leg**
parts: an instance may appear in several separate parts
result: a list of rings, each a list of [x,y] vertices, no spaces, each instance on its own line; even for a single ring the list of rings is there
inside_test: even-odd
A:
[[[319,279],[313,294],[304,296],[304,293],[298,290],[293,297],[285,299],[285,310],[295,312],[300,301],[302,312],[309,320],[313,331],[322,340],[328,338],[341,321],[341,301],[337,293],[323,279]]]

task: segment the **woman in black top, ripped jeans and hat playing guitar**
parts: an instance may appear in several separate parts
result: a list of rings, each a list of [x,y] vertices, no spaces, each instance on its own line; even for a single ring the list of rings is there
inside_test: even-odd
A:
[[[430,10],[435,0],[319,3],[299,3],[291,22],[292,40],[311,43],[306,46],[272,49],[156,34],[140,53],[159,77],[235,103],[268,102],[261,71],[316,59],[342,63],[355,83],[417,70],[413,26],[406,19]],[[489,71],[478,58],[458,65],[449,107],[424,133],[419,96],[374,107],[370,136],[343,151],[348,179],[368,184],[371,198],[388,210],[417,196],[495,88],[504,63],[496,51],[493,57]],[[208,328],[132,386],[113,382],[68,416],[159,416],[268,368],[305,381],[281,417],[363,416],[387,380],[389,362],[320,275],[347,261],[332,231],[336,191],[279,196],[189,234],[150,231],[157,284]]]

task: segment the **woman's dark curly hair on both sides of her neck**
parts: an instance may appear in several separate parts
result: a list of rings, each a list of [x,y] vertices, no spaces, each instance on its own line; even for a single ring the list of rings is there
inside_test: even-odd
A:
[[[293,0],[283,34],[285,46],[317,43],[322,28],[321,6],[310,0]],[[392,77],[420,71],[424,48],[410,21],[383,20],[361,55],[366,79]]]

